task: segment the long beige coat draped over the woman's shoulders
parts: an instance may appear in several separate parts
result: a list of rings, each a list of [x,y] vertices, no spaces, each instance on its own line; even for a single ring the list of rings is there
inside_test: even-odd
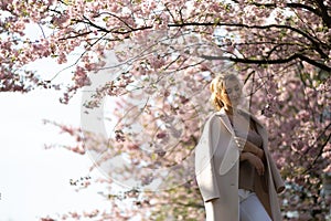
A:
[[[268,150],[268,134],[257,118],[257,131],[263,137],[266,155],[267,188],[256,180],[255,192],[274,221],[281,220],[277,193],[285,189],[284,181]],[[207,221],[239,220],[238,168],[239,155],[233,140],[234,130],[224,110],[213,113],[204,125],[195,147],[195,176],[204,200]],[[258,178],[259,179],[259,178]],[[265,189],[265,190],[264,190]]]

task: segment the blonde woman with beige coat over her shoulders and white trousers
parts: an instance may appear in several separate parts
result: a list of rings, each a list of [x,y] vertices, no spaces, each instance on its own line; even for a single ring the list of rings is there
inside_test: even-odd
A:
[[[195,148],[196,181],[207,221],[279,221],[277,193],[284,181],[268,151],[268,135],[237,108],[242,85],[233,74],[211,83],[217,112],[206,120]]]

